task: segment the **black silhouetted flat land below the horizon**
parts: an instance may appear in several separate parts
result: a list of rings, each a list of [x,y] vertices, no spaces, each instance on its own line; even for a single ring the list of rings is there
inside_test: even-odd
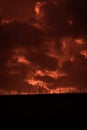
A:
[[[87,94],[0,96],[0,130],[87,129]]]

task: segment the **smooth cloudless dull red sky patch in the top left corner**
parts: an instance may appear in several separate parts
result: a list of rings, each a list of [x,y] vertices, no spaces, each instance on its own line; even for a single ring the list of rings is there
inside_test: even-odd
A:
[[[9,18],[28,20],[34,14],[35,0],[0,0],[2,14]]]

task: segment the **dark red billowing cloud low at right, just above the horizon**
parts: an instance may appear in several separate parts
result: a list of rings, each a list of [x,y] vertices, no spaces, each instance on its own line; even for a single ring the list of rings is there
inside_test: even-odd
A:
[[[76,56],[73,62],[64,62],[61,69],[66,75],[55,80],[51,87],[87,87],[87,59],[83,55]]]

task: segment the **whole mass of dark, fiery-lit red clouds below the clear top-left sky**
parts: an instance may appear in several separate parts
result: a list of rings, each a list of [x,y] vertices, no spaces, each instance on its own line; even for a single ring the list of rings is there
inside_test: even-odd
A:
[[[33,22],[1,19],[0,89],[85,88],[86,3],[42,1],[35,5]]]

